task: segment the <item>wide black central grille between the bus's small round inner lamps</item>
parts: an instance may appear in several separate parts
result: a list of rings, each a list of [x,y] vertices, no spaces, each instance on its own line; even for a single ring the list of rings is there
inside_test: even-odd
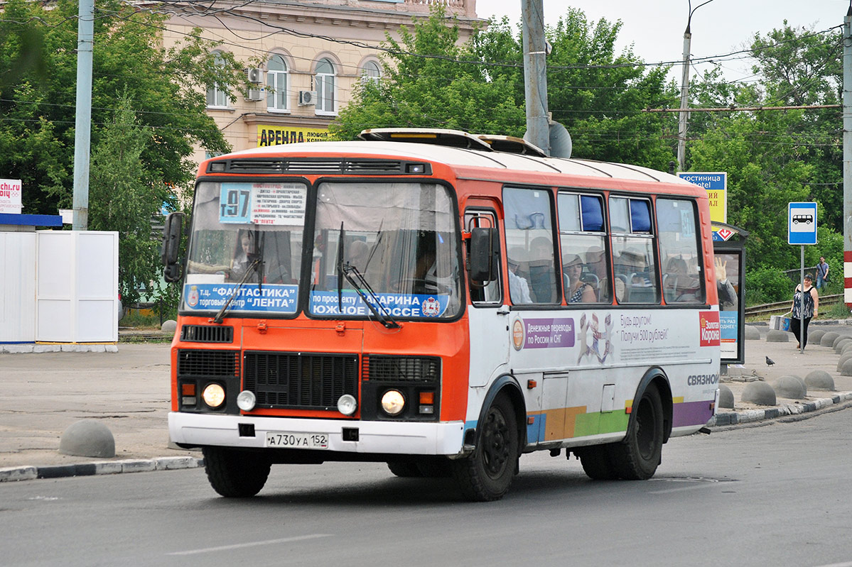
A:
[[[358,399],[358,355],[317,352],[246,352],[243,387],[259,408],[337,409]]]

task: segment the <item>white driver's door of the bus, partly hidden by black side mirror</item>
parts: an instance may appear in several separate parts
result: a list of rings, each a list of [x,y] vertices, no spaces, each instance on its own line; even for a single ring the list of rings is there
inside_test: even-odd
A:
[[[497,213],[491,208],[469,207],[464,212],[464,226],[467,231],[498,228]],[[470,387],[486,386],[507,367],[509,306],[502,281],[501,274],[492,282],[469,282]]]

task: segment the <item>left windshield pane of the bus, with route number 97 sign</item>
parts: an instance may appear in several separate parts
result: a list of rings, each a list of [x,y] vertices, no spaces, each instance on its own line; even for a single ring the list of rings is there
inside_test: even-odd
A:
[[[296,313],[308,186],[199,183],[184,311]]]

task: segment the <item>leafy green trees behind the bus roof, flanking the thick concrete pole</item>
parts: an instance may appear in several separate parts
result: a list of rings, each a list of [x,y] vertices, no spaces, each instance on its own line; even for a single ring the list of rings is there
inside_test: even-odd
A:
[[[614,54],[619,29],[603,19],[591,26],[583,12],[568,9],[546,30],[553,46],[549,106],[572,134],[575,156],[667,169],[674,139],[663,136],[676,122],[641,111],[676,100],[676,93],[665,85],[665,68],[645,72],[630,50]],[[331,125],[338,138],[391,126],[526,131],[521,35],[505,18],[459,45],[458,26],[447,26],[437,8],[413,31],[400,30],[399,41],[388,35],[383,47],[382,80],[356,89]]]

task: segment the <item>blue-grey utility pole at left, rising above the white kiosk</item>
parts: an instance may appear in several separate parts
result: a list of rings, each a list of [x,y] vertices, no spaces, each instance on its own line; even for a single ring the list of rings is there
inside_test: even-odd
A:
[[[72,228],[75,231],[84,231],[89,226],[89,145],[92,128],[92,45],[95,43],[95,0],[80,0],[78,16]]]

